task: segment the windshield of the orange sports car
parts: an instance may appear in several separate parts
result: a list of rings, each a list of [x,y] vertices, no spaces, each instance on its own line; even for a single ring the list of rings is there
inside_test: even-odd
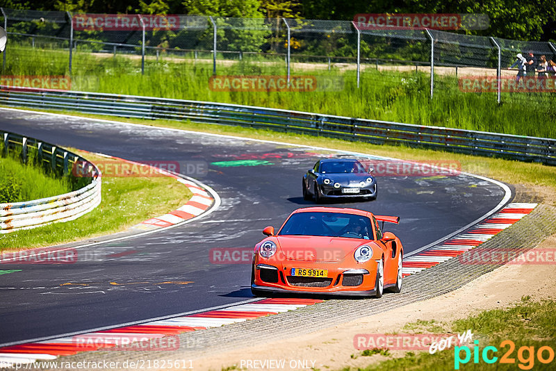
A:
[[[345,213],[295,213],[278,236],[324,236],[373,240],[370,219]]]

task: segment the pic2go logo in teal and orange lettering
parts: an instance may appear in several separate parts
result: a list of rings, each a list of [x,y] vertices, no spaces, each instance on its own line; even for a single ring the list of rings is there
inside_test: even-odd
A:
[[[482,351],[480,351],[479,340],[475,340],[473,343],[475,343],[475,347],[473,347],[473,363],[479,363],[479,356],[484,363],[496,363],[496,361],[498,361],[498,357],[496,356],[498,349],[496,347],[484,347]],[[512,357],[516,349],[515,343],[512,340],[504,340],[500,343],[500,349],[505,347],[509,349],[500,357],[500,361],[498,362],[515,364],[516,358]],[[464,358],[461,358],[462,352],[464,353]],[[537,356],[537,360],[540,363],[550,363],[554,361],[554,349],[545,345],[540,347],[535,353],[534,347],[520,347],[517,351],[518,368],[521,370],[531,370],[534,366],[535,356]],[[471,349],[469,349],[469,347],[454,347],[454,370],[459,370],[459,365],[465,365],[469,361],[471,361]]]

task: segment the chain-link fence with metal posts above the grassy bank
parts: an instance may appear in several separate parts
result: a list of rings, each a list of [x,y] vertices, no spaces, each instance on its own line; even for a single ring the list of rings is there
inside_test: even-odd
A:
[[[94,88],[95,76],[110,73],[115,64],[145,74],[145,70],[163,70],[165,63],[175,62],[212,68],[214,75],[229,73],[228,67],[236,66],[238,74],[272,72],[288,79],[308,70],[329,70],[354,74],[357,88],[361,84],[399,85],[408,73],[421,72],[430,79],[433,97],[435,91],[457,87],[461,76],[516,79],[517,69],[508,71],[507,67],[518,53],[532,53],[537,62],[540,56],[556,60],[556,48],[550,42],[417,28],[367,29],[349,21],[0,9],[11,44],[2,56],[3,74],[13,71],[13,65],[24,66],[25,60],[38,60],[49,74],[70,75],[74,81],[86,78],[89,83],[79,85],[83,90]],[[528,67],[528,76],[536,67]],[[42,74],[36,67],[17,71]],[[516,97],[506,93],[500,82],[493,93],[498,102]]]

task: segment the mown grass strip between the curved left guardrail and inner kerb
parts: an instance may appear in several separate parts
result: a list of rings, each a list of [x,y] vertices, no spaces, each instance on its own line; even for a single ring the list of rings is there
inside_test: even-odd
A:
[[[106,161],[106,158],[72,151],[92,163]],[[175,210],[190,196],[186,186],[167,176],[103,177],[102,201],[95,210],[71,222],[0,235],[0,250],[54,245],[115,233]]]

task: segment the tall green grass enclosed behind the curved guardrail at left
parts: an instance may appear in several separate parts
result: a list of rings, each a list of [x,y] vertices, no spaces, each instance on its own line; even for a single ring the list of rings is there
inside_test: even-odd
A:
[[[31,201],[72,191],[67,178],[45,174],[40,167],[24,165],[18,158],[0,157],[0,204]]]

